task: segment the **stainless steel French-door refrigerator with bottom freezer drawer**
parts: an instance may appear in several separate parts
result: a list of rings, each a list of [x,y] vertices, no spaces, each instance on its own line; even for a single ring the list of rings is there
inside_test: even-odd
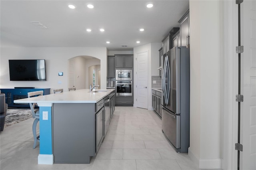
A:
[[[188,152],[190,119],[189,48],[173,47],[162,59],[162,131],[177,152]]]

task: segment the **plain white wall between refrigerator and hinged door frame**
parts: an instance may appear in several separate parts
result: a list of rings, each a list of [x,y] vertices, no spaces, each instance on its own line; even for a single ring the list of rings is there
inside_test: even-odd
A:
[[[190,147],[199,168],[221,168],[220,1],[190,0]],[[222,113],[223,114],[223,113]]]

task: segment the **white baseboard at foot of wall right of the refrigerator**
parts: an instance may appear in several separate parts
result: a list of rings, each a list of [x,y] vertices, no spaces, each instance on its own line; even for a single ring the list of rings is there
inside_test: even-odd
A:
[[[190,148],[188,148],[188,156],[199,169],[221,169],[221,158],[199,159]]]

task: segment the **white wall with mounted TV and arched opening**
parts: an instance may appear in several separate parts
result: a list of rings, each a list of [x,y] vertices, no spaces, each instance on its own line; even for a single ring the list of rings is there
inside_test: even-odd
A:
[[[88,55],[100,59],[101,88],[106,88],[106,47],[1,47],[0,88],[63,88],[68,91],[68,59]],[[46,81],[10,81],[8,59],[45,59]],[[58,76],[63,72],[63,76]]]

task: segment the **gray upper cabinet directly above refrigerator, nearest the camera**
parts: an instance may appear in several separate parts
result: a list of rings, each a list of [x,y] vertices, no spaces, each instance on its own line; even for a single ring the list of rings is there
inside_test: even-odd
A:
[[[180,43],[181,46],[189,47],[190,29],[189,29],[189,10],[178,21],[180,23]]]

